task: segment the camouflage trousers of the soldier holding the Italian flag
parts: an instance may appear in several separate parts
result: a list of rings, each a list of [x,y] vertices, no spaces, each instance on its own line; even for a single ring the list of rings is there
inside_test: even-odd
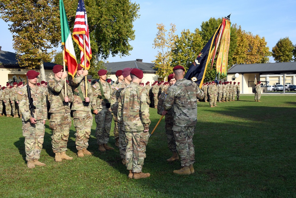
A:
[[[70,113],[51,113],[49,128],[52,129],[52,150],[54,153],[67,151],[71,125]]]

